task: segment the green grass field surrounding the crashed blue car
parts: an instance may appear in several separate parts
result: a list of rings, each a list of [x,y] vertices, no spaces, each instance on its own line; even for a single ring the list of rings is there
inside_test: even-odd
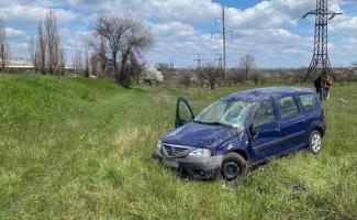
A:
[[[0,219],[357,219],[357,86],[333,88],[320,155],[274,160],[239,186],[152,158],[177,96],[198,112],[242,89],[0,75]]]

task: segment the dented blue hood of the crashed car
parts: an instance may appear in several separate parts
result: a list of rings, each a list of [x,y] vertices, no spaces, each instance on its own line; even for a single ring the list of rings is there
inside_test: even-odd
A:
[[[167,144],[197,148],[215,147],[237,134],[237,130],[224,125],[188,123],[163,136]]]

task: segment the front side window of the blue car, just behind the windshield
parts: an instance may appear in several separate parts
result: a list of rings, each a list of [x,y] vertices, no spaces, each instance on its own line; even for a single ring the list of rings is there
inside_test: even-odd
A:
[[[254,125],[260,127],[271,123],[276,120],[276,113],[272,100],[263,101],[254,116]]]

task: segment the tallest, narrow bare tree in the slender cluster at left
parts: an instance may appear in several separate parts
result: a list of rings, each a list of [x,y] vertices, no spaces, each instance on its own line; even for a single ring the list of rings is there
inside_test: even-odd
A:
[[[60,40],[58,35],[57,19],[54,11],[49,11],[46,14],[45,21],[45,36],[47,47],[47,66],[51,75],[60,74],[60,69],[64,56],[64,51],[59,48]]]

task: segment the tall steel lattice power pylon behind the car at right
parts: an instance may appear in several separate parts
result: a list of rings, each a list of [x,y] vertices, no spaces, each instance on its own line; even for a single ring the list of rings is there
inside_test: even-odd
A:
[[[303,79],[304,82],[313,72],[323,77],[332,75],[332,66],[328,58],[328,21],[339,14],[342,13],[328,10],[327,0],[316,0],[316,10],[310,11],[302,16],[302,19],[305,19],[308,15],[315,15],[314,53]]]

